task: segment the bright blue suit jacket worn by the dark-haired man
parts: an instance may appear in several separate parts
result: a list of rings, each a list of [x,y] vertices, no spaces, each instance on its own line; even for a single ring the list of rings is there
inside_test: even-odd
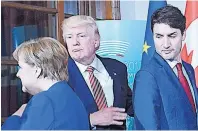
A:
[[[182,64],[193,87],[198,110],[194,70],[191,65]],[[197,129],[197,114],[192,110],[178,77],[157,53],[136,74],[133,98],[136,129]]]

